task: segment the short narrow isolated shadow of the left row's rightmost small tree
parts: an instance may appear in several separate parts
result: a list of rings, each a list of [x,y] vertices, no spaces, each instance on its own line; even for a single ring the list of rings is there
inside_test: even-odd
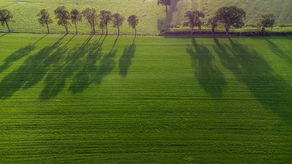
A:
[[[135,37],[134,37],[133,43],[124,49],[123,55],[119,59],[119,70],[120,70],[120,75],[122,77],[127,76],[128,68],[132,64],[131,60],[134,57],[134,54],[136,51],[136,45],[134,43]]]

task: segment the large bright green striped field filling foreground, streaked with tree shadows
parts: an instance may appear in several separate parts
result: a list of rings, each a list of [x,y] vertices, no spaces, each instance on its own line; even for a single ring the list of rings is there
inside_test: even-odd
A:
[[[0,34],[0,163],[290,163],[291,45]]]

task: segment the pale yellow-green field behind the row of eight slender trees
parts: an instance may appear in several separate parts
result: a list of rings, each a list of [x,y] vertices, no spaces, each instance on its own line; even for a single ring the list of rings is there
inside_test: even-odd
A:
[[[124,16],[125,22],[121,27],[121,34],[134,34],[134,30],[129,27],[127,18],[128,16],[135,14],[139,18],[139,24],[137,26],[138,34],[156,35],[159,32],[159,28],[162,26],[163,19],[165,18],[165,7],[158,6],[157,0],[19,0],[26,1],[26,3],[18,3],[18,0],[1,0],[0,9],[8,9],[14,15],[15,22],[10,22],[12,31],[16,32],[47,32],[46,27],[42,27],[37,19],[37,14],[41,9],[48,9],[51,17],[54,18],[54,23],[49,25],[51,33],[66,33],[63,26],[57,25],[57,19],[55,19],[54,10],[60,6],[65,5],[69,11],[73,8],[84,10],[87,7],[96,8],[100,10],[109,10],[112,13],[120,13]],[[77,4],[78,2],[78,4]],[[143,17],[143,15],[146,16]],[[79,33],[90,33],[91,27],[85,19],[82,22],[77,23]],[[102,30],[98,29],[97,32],[101,33]],[[69,25],[69,33],[75,32],[74,24]],[[6,26],[0,26],[0,31],[7,31]],[[112,27],[112,23],[109,25],[109,33],[116,34],[117,29]]]

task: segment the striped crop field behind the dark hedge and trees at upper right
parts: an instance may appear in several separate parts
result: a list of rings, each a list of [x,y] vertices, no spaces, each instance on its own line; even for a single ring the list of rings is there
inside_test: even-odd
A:
[[[187,10],[200,10],[206,19],[213,17],[218,8],[237,6],[246,12],[246,24],[256,24],[261,14],[273,13],[276,23],[292,23],[292,0],[173,0],[162,29],[182,26]]]

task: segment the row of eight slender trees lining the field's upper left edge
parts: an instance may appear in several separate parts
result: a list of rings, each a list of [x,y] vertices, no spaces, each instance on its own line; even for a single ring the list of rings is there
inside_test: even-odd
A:
[[[110,11],[101,10],[99,13],[95,8],[86,8],[83,11],[79,11],[77,9],[72,9],[71,12],[64,6],[61,5],[57,7],[54,11],[55,18],[57,19],[57,24],[59,26],[64,26],[66,30],[66,34],[69,33],[68,24],[73,23],[75,25],[76,34],[78,33],[77,30],[77,22],[86,19],[87,22],[91,26],[91,34],[95,34],[96,25],[100,29],[102,29],[102,33],[104,29],[106,29],[106,35],[108,35],[108,25],[112,23],[114,28],[117,28],[118,35],[120,35],[120,27],[123,25],[125,17],[121,16],[119,13],[112,14]],[[53,23],[53,19],[50,16],[50,13],[47,9],[42,9],[38,14],[38,22],[42,25],[47,27],[48,33],[50,34],[49,25]],[[0,10],[0,21],[1,25],[7,26],[7,29],[10,31],[8,22],[14,21],[13,14],[6,9]],[[139,19],[136,15],[131,15],[128,17],[128,25],[135,30],[136,33],[136,26],[139,23]]]

